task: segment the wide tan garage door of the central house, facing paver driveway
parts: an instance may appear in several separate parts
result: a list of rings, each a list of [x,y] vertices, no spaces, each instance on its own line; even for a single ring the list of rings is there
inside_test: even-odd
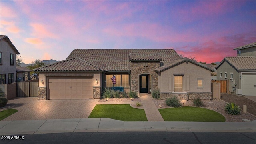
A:
[[[49,99],[93,98],[92,78],[49,78]]]

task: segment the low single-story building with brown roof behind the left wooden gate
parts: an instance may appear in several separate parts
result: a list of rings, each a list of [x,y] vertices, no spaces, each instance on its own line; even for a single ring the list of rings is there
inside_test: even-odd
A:
[[[33,70],[30,70],[28,68],[23,68],[20,66],[16,66],[16,72],[17,72],[17,82],[22,82],[26,80],[30,80],[30,72]]]

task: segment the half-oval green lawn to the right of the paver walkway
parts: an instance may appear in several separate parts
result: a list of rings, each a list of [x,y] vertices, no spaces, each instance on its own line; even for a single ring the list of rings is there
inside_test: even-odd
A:
[[[225,122],[222,114],[198,107],[164,108],[159,109],[164,121],[191,121],[191,122]]]

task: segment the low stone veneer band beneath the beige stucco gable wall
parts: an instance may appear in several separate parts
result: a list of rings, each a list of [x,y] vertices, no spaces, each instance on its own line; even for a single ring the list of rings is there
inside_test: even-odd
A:
[[[179,100],[192,100],[199,97],[201,100],[210,100],[212,99],[212,93],[211,92],[182,92],[182,93],[160,93],[160,99],[166,99],[176,96]]]

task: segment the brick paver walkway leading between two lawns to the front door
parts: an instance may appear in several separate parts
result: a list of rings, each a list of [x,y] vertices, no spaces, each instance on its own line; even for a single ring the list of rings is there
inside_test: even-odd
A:
[[[140,96],[148,121],[164,121],[160,112],[156,108],[151,95]]]

